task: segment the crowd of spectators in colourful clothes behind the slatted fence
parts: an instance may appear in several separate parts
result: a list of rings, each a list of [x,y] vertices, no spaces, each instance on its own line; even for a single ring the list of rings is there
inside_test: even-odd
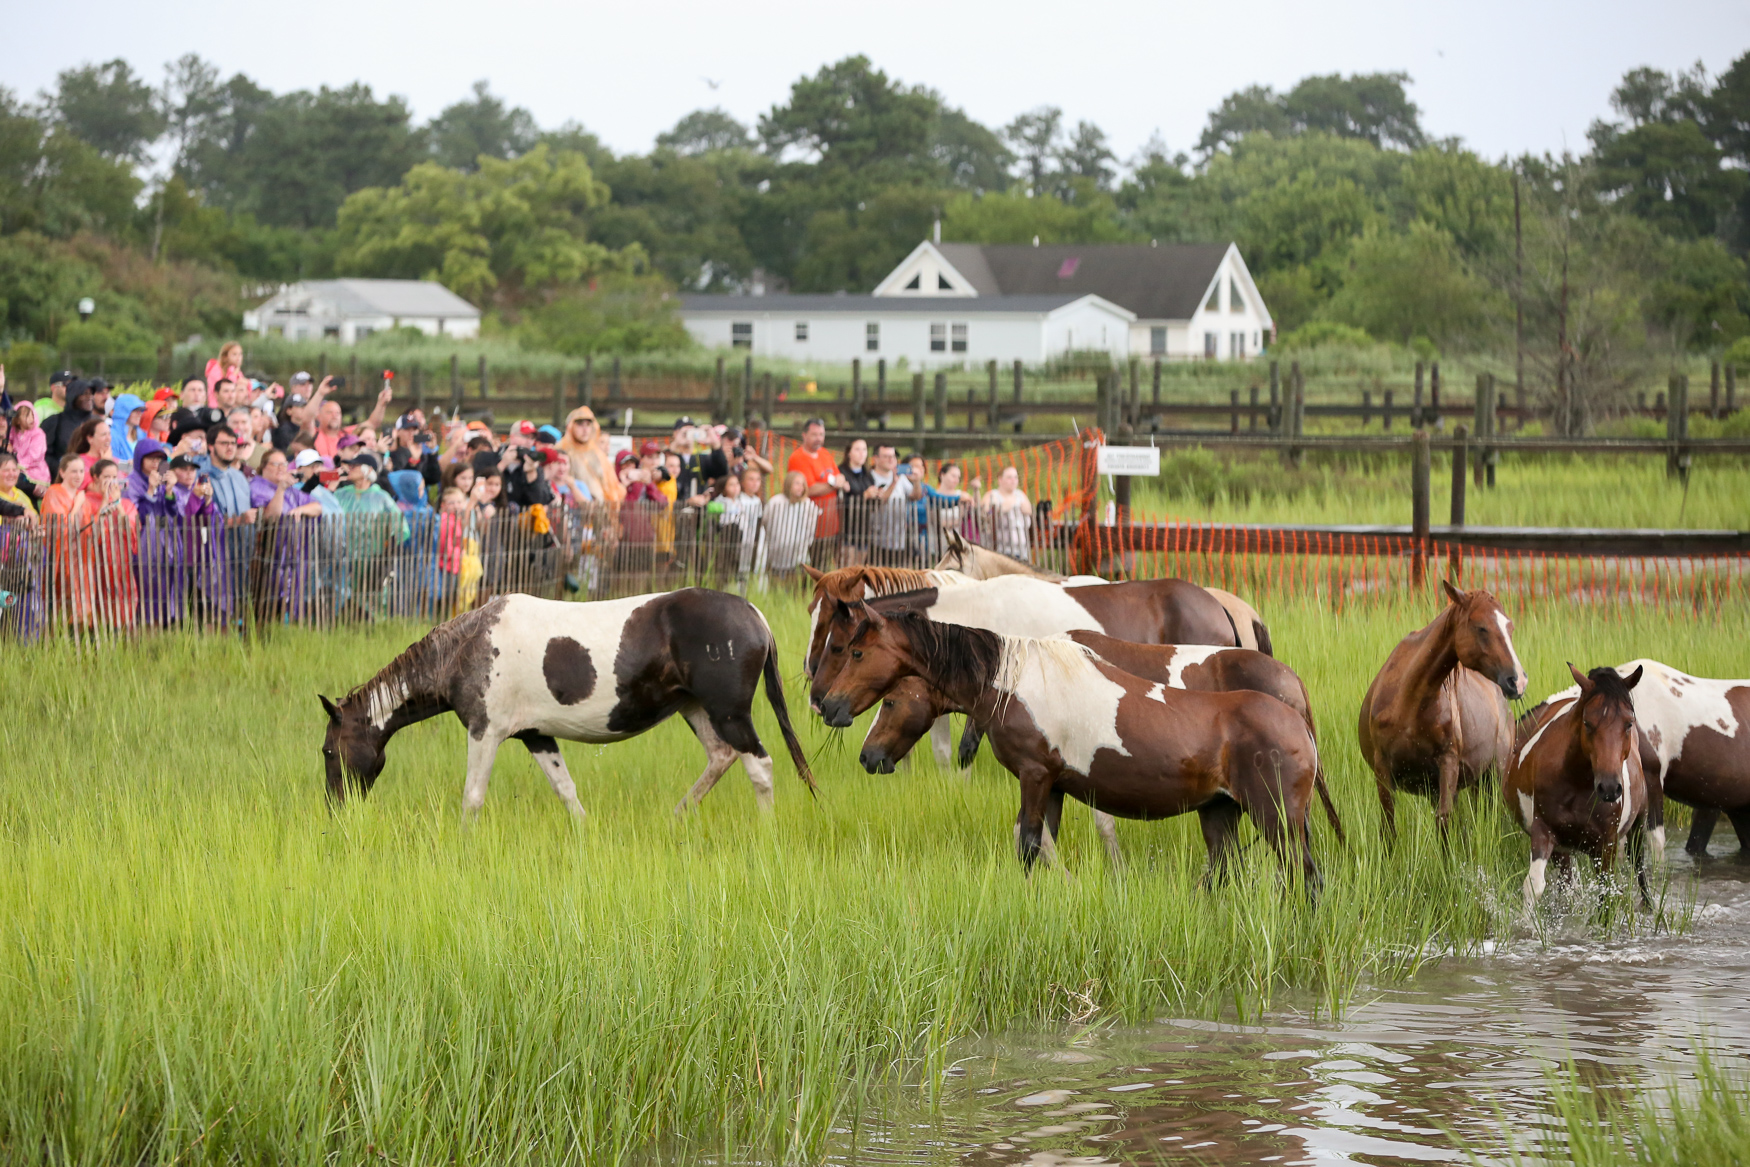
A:
[[[424,514],[436,532],[432,558],[464,600],[467,581],[478,584],[488,570],[494,532],[508,527],[499,520],[551,539],[555,530],[564,537],[567,511],[592,516],[578,521],[584,539],[607,535],[588,523],[612,516],[597,549],[612,546],[614,558],[592,572],[660,574],[698,567],[700,556],[740,577],[788,576],[805,563],[912,563],[938,555],[948,530],[1029,558],[1032,506],[1013,467],[990,490],[978,478],[962,485],[956,462],[940,464],[929,483],[922,457],[901,460],[886,441],[872,448],[858,437],[835,458],[819,418],[805,423],[782,472],[740,429],[688,416],[667,441],[616,451],[588,406],[562,425],[520,420],[502,434],[418,409],[390,418],[388,376],[371,409],[348,423],[332,397],[336,378],[298,373],[287,385],[268,383],[243,373],[236,345],[203,376],[150,397],[112,395],[102,376],[61,371],[44,397],[14,404],[0,366],[0,520],[226,530],[354,516],[408,544]],[[96,555],[103,570],[114,574],[105,556],[116,555]],[[140,548],[130,555],[144,586]],[[567,563],[576,569],[576,556]],[[574,576],[569,583],[578,586]]]

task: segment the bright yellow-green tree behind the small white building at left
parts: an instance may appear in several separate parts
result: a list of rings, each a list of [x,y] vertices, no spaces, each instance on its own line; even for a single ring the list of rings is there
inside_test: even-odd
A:
[[[588,238],[607,187],[581,154],[537,145],[518,159],[483,157],[466,175],[420,163],[394,187],[352,194],[336,226],[338,271],[441,280],[476,304],[514,308],[640,259]]]

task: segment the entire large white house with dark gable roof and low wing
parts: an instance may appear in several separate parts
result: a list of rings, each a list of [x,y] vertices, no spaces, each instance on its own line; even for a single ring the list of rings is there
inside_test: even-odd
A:
[[[1272,320],[1232,243],[919,243],[868,296],[682,296],[710,348],[914,367],[1071,352],[1248,360]]]

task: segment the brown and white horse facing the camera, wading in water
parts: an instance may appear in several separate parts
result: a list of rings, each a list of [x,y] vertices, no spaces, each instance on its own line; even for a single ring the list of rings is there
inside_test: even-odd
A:
[[[1550,856],[1568,871],[1575,850],[1605,870],[1628,840],[1642,899],[1647,892],[1647,780],[1642,772],[1640,733],[1634,728],[1634,698],[1642,670],[1628,677],[1614,668],[1580,674],[1573,696],[1536,705],[1519,719],[1514,759],[1502,782],[1508,814],[1531,836],[1531,870],[1526,871],[1526,908],[1544,894],[1544,871]]]

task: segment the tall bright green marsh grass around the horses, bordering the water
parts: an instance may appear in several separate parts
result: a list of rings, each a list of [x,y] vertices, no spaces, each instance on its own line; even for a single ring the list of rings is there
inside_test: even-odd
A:
[[[803,611],[761,605],[794,677]],[[581,826],[508,745],[464,828],[450,717],[390,745],[369,801],[322,803],[315,693],[415,630],[4,646],[0,1160],[808,1160],[872,1087],[940,1080],[954,1039],[1052,1025],[1080,997],[1102,1020],[1253,1017],[1290,987],[1340,1010],[1428,954],[1536,943],[1524,842],[1494,801],[1461,801],[1449,859],[1414,801],[1405,843],[1377,845],[1354,709],[1432,595],[1265,607],[1351,828],[1339,850],[1314,819],[1316,906],[1262,847],[1200,891],[1195,817],[1120,824],[1113,873],[1073,808],[1073,878],[1024,878],[1015,784],[989,754],[970,779],[928,759],[864,775],[861,730],[821,730],[798,681],[817,801],[780,761],[775,814],[733,770],[676,821],[702,766],[676,721],[565,745]],[[1566,684],[1564,660],[1745,675],[1745,616],[1549,607],[1517,614],[1519,647],[1536,693]],[[1682,927],[1684,905],[1668,889],[1659,922]]]

